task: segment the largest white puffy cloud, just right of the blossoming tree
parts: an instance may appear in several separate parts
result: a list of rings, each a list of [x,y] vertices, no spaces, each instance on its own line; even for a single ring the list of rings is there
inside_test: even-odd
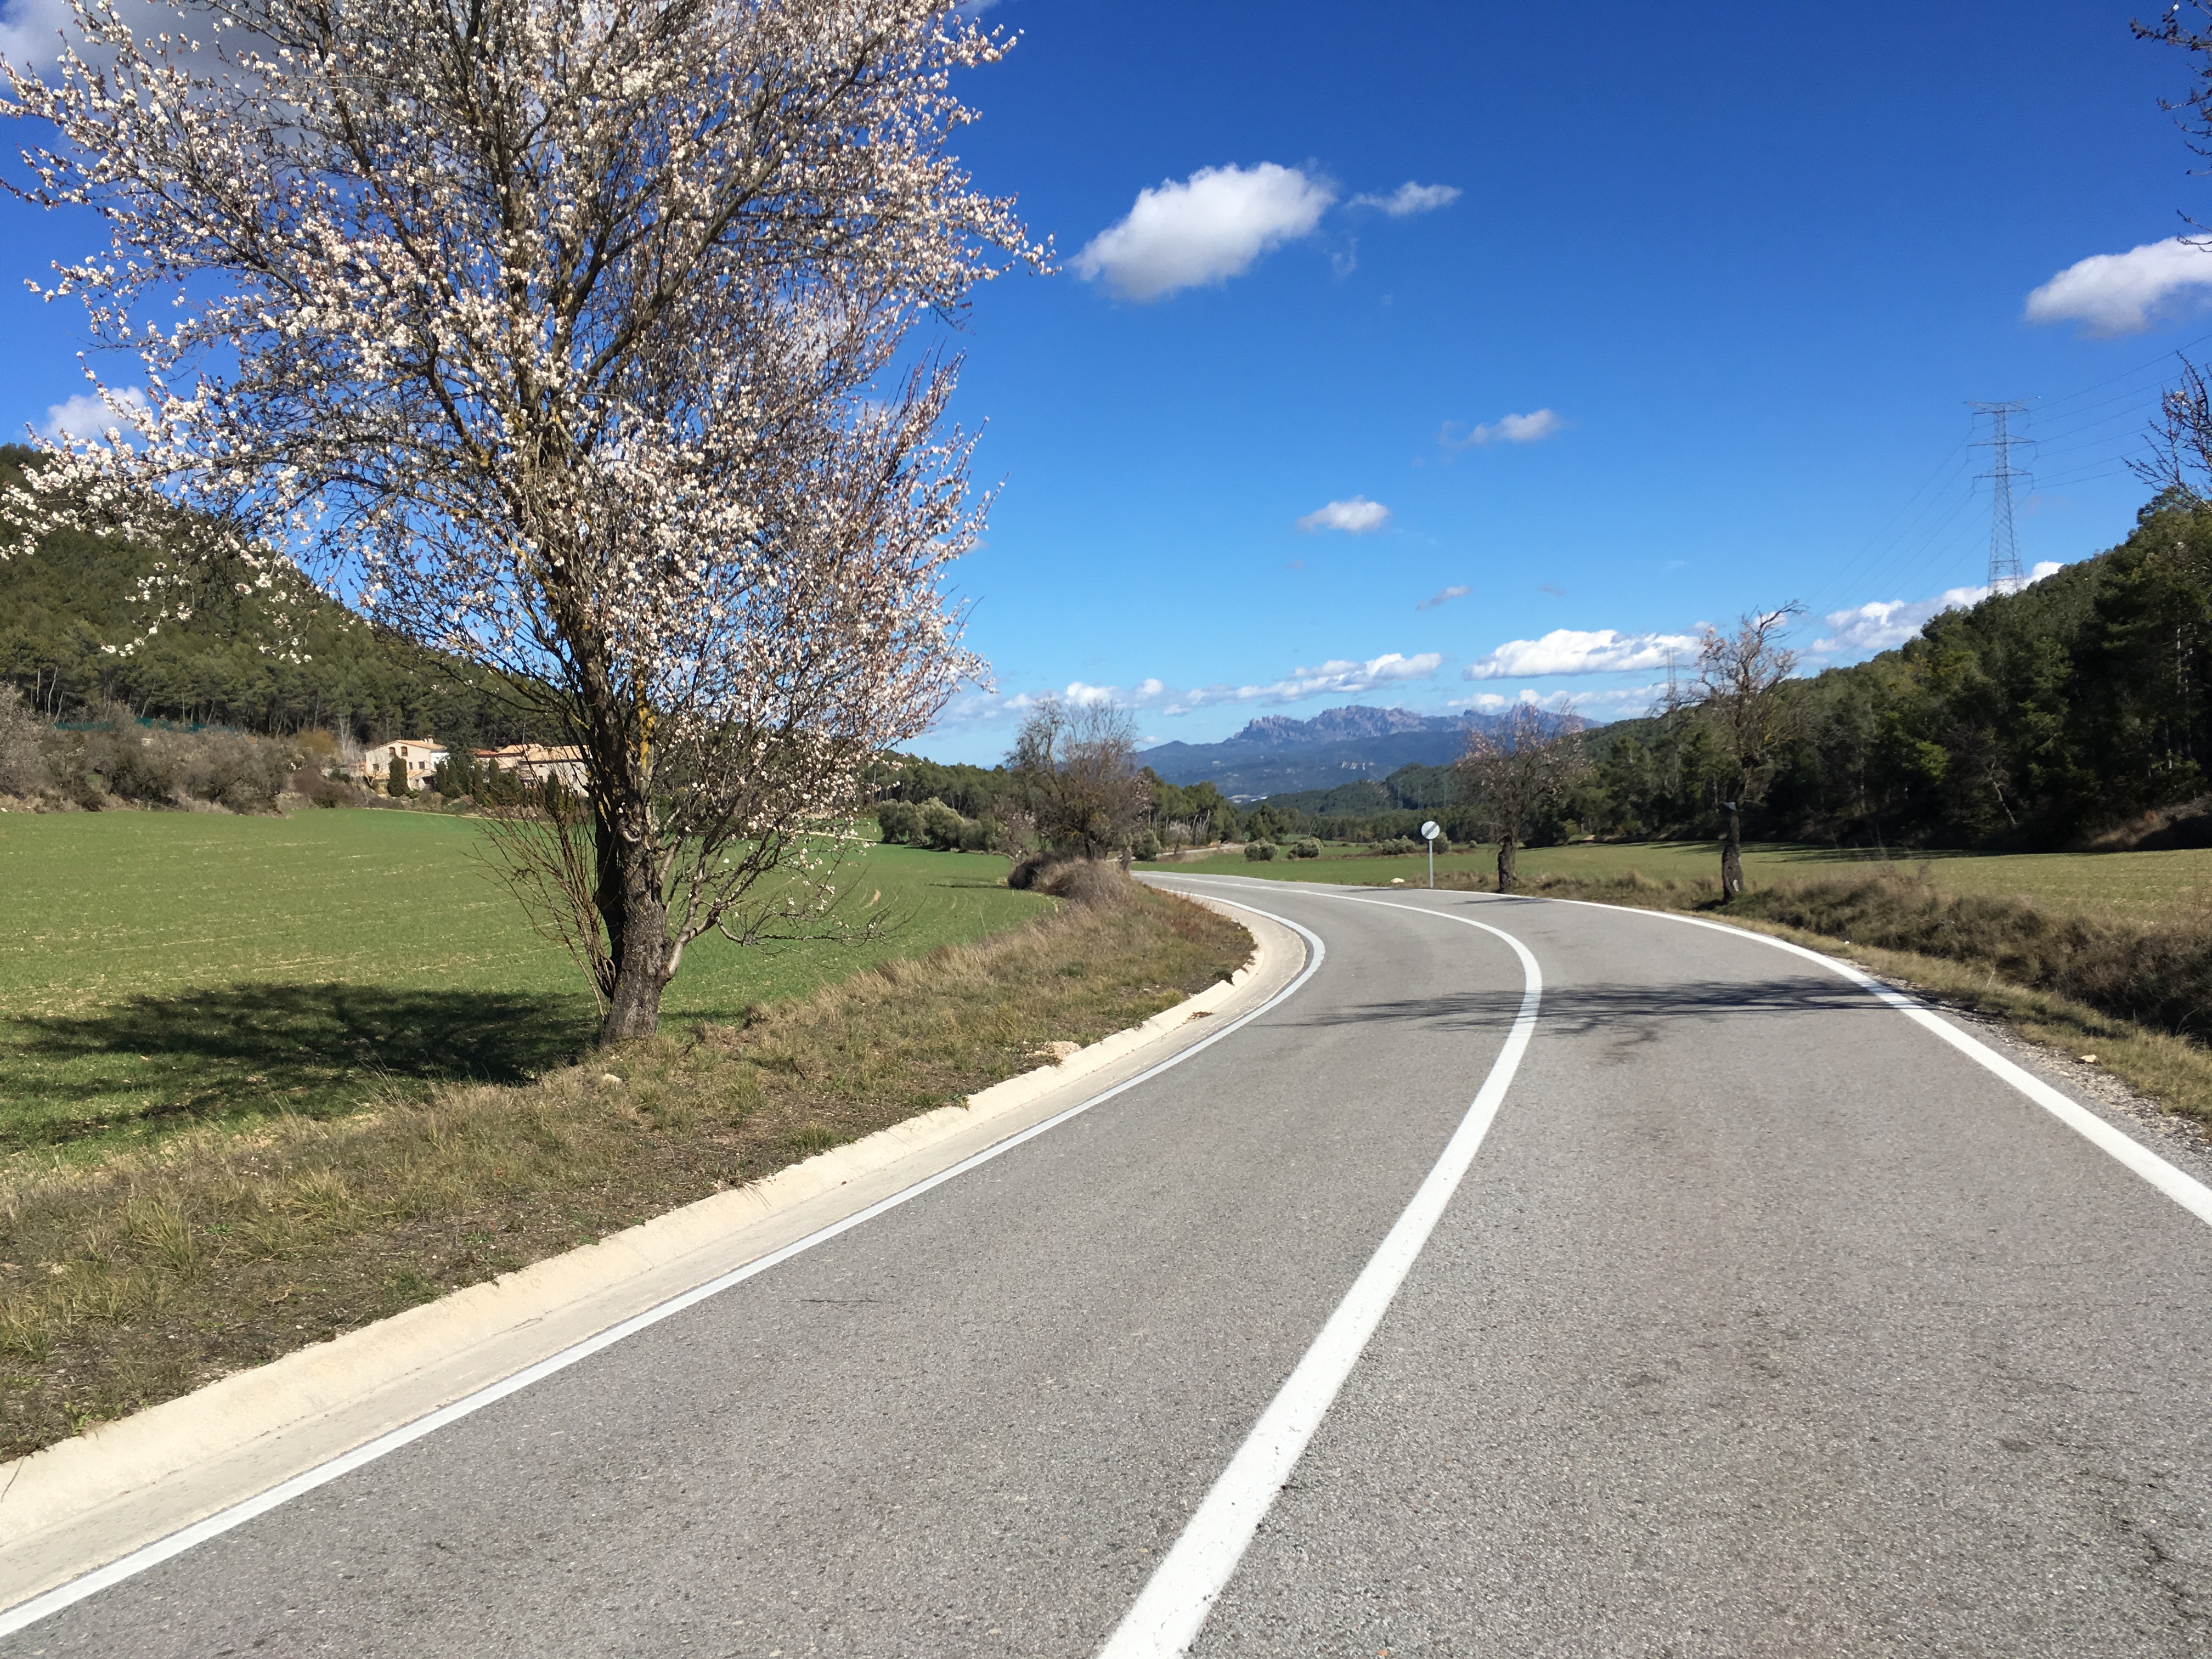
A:
[[[1241,276],[1270,248],[1312,232],[1332,201],[1327,184],[1274,161],[1199,168],[1183,184],[1139,190],[1128,217],[1071,263],[1124,299],[1152,301]]]

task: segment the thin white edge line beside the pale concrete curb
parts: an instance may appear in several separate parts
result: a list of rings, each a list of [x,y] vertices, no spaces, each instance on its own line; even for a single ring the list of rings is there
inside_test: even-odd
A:
[[[1221,902],[1223,905],[1237,905],[1237,900],[1232,900],[1232,898],[1223,898]],[[1327,956],[1327,947],[1321,942],[1321,936],[1314,933],[1310,927],[1301,927],[1298,922],[1290,920],[1287,916],[1276,916],[1274,911],[1259,909],[1256,905],[1237,905],[1237,909],[1248,909],[1254,916],[1265,916],[1270,922],[1281,922],[1283,927],[1296,931],[1305,940],[1305,947],[1307,947],[1305,969],[1298,973],[1298,978],[1294,978],[1290,984],[1285,984],[1272,998],[1267,998],[1265,1002],[1261,1002],[1256,1009],[1237,1015],[1234,1020],[1230,1020],[1219,1031],[1206,1033],[1203,1037],[1199,1037],[1199,1042],[1190,1044],[1188,1048],[1183,1048],[1179,1053],[1168,1055],[1157,1066],[1150,1066],[1148,1071],[1141,1071],[1135,1077],[1128,1077],[1128,1079],[1115,1084],[1113,1088],[1093,1095],[1091,1099],[1077,1102],[1075,1106],[1068,1106],[1064,1113],[1055,1113],[1053,1117],[1046,1117],[1042,1124],[1031,1124],[1029,1128],[1020,1130],[1018,1135],[1009,1135],[1006,1139],[1002,1139],[1002,1141],[998,1141],[993,1146],[987,1146],[984,1150],[975,1152],[973,1157],[967,1157],[960,1164],[953,1164],[949,1170],[938,1170],[936,1175],[931,1175],[931,1177],[927,1177],[922,1181],[916,1181],[914,1186],[909,1186],[909,1188],[905,1188],[900,1192],[894,1192],[887,1199],[878,1199],[876,1203],[867,1206],[865,1210],[854,1210],[843,1221],[832,1221],[827,1228],[821,1228],[818,1232],[810,1232],[805,1239],[796,1239],[796,1241],[783,1245],[781,1250],[770,1250],[765,1256],[759,1256],[757,1261],[748,1261],[743,1267],[732,1267],[730,1272],[721,1274],[719,1279],[710,1279],[703,1285],[695,1285],[695,1287],[686,1290],[681,1296],[670,1296],[668,1301],[664,1301],[664,1303],[659,1303],[655,1307],[648,1307],[641,1314],[633,1314],[630,1318],[622,1321],[619,1325],[608,1325],[604,1332],[599,1332],[597,1336],[584,1338],[575,1347],[564,1347],[560,1354],[542,1358],[535,1365],[529,1365],[529,1367],[515,1371],[513,1376],[500,1378],[491,1387],[478,1389],[476,1394],[469,1394],[469,1396],[465,1396],[460,1400],[453,1400],[451,1405],[440,1407],[438,1411],[420,1416],[414,1422],[409,1422],[409,1425],[405,1425],[400,1429],[394,1429],[392,1433],[378,1436],[376,1440],[369,1440],[369,1442],[365,1442],[361,1447],[354,1447],[352,1451],[347,1451],[341,1458],[332,1458],[325,1464],[319,1464],[314,1469],[307,1469],[305,1473],[292,1475],[290,1480],[285,1480],[285,1482],[276,1484],[276,1486],[270,1486],[268,1491],[257,1493],[254,1498],[248,1498],[241,1504],[232,1504],[230,1509],[219,1509],[217,1513],[208,1515],[206,1520],[192,1522],[190,1526],[184,1526],[184,1528],[170,1533],[168,1537],[155,1540],[153,1544],[146,1544],[144,1548],[137,1548],[131,1555],[124,1555],[122,1559],[108,1562],[106,1566],[100,1566],[100,1568],[93,1568],[91,1573],[86,1573],[82,1577],[75,1577],[69,1584],[60,1584],[60,1586],[46,1590],[44,1595],[35,1595],[29,1601],[18,1601],[15,1606],[11,1606],[4,1613],[0,1613],[0,1637],[9,1637],[15,1630],[22,1630],[27,1626],[38,1624],[40,1619],[49,1619],[55,1613],[60,1613],[62,1608],[75,1606],[77,1601],[82,1601],[88,1595],[100,1595],[100,1590],[106,1590],[106,1588],[111,1588],[115,1584],[122,1584],[124,1579],[135,1577],[135,1575],[144,1573],[150,1566],[159,1566],[161,1562],[166,1562],[166,1559],[170,1559],[175,1555],[184,1555],[188,1548],[206,1544],[210,1537],[221,1537],[232,1526],[243,1526],[246,1522],[254,1520],[257,1515],[265,1515],[272,1509],[290,1504],[294,1498],[301,1498],[301,1495],[314,1491],[316,1486],[327,1486],[332,1480],[338,1480],[341,1475],[347,1475],[354,1469],[361,1469],[363,1464],[372,1464],[378,1458],[385,1458],[385,1455],[398,1451],[405,1444],[411,1444],[411,1442],[416,1442],[416,1440],[420,1440],[425,1436],[438,1433],[438,1429],[447,1427],[449,1422],[458,1422],[460,1418],[473,1416],[476,1411],[482,1411],[487,1405],[495,1405],[495,1402],[504,1400],[509,1394],[520,1394],[522,1389],[531,1387],[531,1383],[542,1383],[544,1378],[553,1376],[555,1371],[566,1371],[577,1360],[586,1360],[593,1354],[597,1354],[599,1349],[613,1347],[615,1343],[624,1340],[626,1336],[637,1336],[637,1332],[648,1329],[653,1325],[659,1325],[664,1318],[681,1314],[686,1307],[697,1307],[708,1296],[719,1296],[721,1292],[726,1292],[726,1290],[730,1290],[734,1285],[745,1283],[754,1274],[763,1274],[770,1267],[776,1267],[779,1263],[785,1263],[792,1256],[799,1256],[799,1254],[812,1250],[818,1243],[827,1243],[830,1239],[836,1239],[841,1232],[852,1232],[863,1221],[874,1221],[876,1217],[885,1214],[887,1210],[896,1210],[898,1206],[907,1203],[909,1199],[918,1199],[925,1192],[929,1192],[931,1188],[940,1188],[947,1181],[951,1181],[953,1177],[967,1175],[969,1170],[989,1164],[991,1159],[1000,1157],[1002,1152],[1011,1152],[1015,1146],[1022,1146],[1024,1141],[1033,1141],[1040,1135],[1060,1128],[1071,1117],[1082,1117],[1093,1106],[1104,1106],[1115,1095],[1128,1093],[1137,1084],[1150,1082],[1152,1077],[1159,1077],[1159,1073],[1170,1071],[1172,1066],[1183,1064],[1186,1060],[1190,1060],[1192,1055],[1197,1055],[1197,1053],[1201,1053],[1206,1048],[1212,1048],[1217,1042],[1221,1042],[1223,1037],[1228,1037],[1232,1031],[1239,1031],[1241,1026],[1248,1026],[1252,1020],[1259,1020],[1263,1013],[1267,1013],[1276,1004],[1285,1002],[1292,993],[1296,993],[1307,980],[1314,978],[1316,969],[1321,969],[1321,960]],[[1480,927],[1480,922],[1478,922],[1478,927]]]

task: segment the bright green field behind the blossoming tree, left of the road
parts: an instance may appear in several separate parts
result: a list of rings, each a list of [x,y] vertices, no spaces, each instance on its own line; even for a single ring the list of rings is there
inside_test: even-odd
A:
[[[418,812],[0,816],[0,1150],[192,1121],[354,1110],[385,1088],[520,1079],[593,1035],[591,989]],[[1000,858],[867,847],[843,887],[896,920],[865,945],[703,938],[670,1024],[732,1020],[1053,900]]]

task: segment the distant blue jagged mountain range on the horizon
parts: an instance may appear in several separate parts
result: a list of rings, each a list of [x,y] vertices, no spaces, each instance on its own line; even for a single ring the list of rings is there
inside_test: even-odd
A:
[[[1161,743],[1137,761],[1168,783],[1212,781],[1232,801],[1332,790],[1400,765],[1447,765],[1495,714],[1416,714],[1405,708],[1325,708],[1314,719],[1263,714],[1221,743]]]

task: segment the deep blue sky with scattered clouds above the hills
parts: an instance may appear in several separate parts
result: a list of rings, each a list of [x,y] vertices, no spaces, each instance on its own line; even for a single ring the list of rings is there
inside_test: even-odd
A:
[[[0,49],[51,4],[7,0]],[[995,686],[940,759],[995,759],[1051,690],[1113,690],[1148,741],[1639,712],[1666,639],[1785,599],[1812,661],[1865,655],[1984,580],[1969,400],[2035,400],[2022,557],[2077,560],[2212,332],[2212,254],[2157,248],[2212,219],[2157,104],[2188,62],[2126,4],[987,15],[1022,42],[967,80],[962,155],[1062,272],[958,341],[1004,493],[958,577]],[[7,274],[84,230],[0,204]],[[0,288],[9,429],[82,389],[77,327]]]

